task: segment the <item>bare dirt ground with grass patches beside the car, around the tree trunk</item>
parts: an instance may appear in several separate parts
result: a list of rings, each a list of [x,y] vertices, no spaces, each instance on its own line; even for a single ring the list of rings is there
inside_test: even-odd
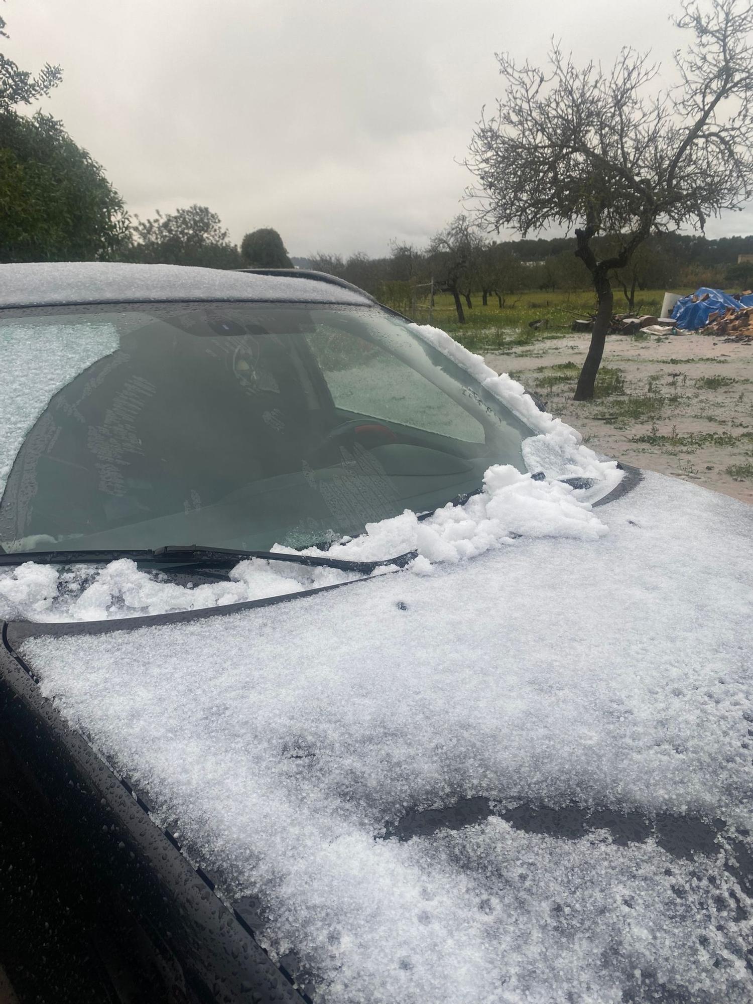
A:
[[[535,391],[591,449],[753,503],[753,345],[610,335],[597,397],[574,402],[588,338],[497,349],[486,361]]]

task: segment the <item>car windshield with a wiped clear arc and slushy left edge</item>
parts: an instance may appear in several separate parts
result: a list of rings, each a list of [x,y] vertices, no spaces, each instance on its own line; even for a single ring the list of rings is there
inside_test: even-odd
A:
[[[301,548],[525,470],[530,430],[379,307],[0,317],[6,551]]]

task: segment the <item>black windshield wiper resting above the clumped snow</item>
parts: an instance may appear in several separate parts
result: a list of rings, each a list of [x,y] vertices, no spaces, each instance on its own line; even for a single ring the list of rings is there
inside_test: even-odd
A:
[[[417,551],[408,551],[385,561],[345,561],[324,555],[300,554],[297,551],[237,551],[225,547],[205,547],[201,544],[168,544],[154,550],[114,549],[101,551],[15,551],[0,554],[0,567],[19,565],[26,561],[37,564],[108,564],[118,558],[131,558],[137,562],[165,565],[194,565],[197,567],[232,567],[248,558],[262,558],[265,561],[283,561],[290,564],[306,565],[312,568],[338,568],[353,571],[359,575],[370,575],[378,568],[397,565],[404,568],[417,556]]]

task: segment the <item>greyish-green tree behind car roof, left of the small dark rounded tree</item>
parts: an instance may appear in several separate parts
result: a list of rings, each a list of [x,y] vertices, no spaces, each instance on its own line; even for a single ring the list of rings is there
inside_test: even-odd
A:
[[[240,268],[241,256],[228,239],[217,213],[207,206],[189,206],[175,213],[140,220],[126,251],[127,261],[145,264],[198,265],[205,268]]]

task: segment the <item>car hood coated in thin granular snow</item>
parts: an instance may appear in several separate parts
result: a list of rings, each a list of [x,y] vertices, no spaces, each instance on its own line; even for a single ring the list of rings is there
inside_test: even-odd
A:
[[[753,507],[598,515],[21,655],[315,999],[749,1001]]]

